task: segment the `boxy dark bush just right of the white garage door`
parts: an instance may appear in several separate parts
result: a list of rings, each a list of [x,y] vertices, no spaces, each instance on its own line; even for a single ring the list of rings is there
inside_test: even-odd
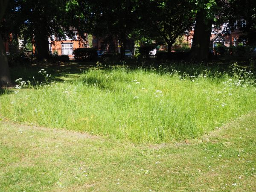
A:
[[[97,50],[93,48],[78,48],[73,51],[73,55],[78,60],[95,60],[97,58]]]

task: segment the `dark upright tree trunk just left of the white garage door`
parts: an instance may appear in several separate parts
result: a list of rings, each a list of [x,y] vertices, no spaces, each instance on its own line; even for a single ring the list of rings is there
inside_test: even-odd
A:
[[[35,56],[38,60],[48,60],[50,57],[48,34],[44,26],[35,31]]]

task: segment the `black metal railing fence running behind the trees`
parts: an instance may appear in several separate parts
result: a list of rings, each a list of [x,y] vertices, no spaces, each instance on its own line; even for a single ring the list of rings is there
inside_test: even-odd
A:
[[[245,42],[212,42],[210,43],[209,47],[210,48],[215,48],[220,45],[224,45],[226,47],[230,46],[245,46]],[[181,43],[181,44],[173,44],[171,51],[172,52],[188,52],[190,48],[192,47],[192,44],[189,43]],[[71,60],[74,59],[73,51],[77,49],[78,47],[71,47],[71,48],[51,48],[50,53],[51,55],[68,55]],[[118,56],[121,52],[120,47],[96,47],[97,50],[97,55],[99,58],[106,56],[106,55],[116,55]],[[156,45],[155,48],[153,48],[149,52],[149,57],[154,58],[156,53],[158,51],[167,51],[168,47],[166,45]],[[28,48],[23,48],[23,49],[15,49],[9,52],[6,52],[7,55],[13,56],[13,55],[20,55],[25,58],[32,58],[35,55],[35,49],[28,49]],[[125,56],[127,58],[138,58],[139,57],[139,47],[136,46],[130,46],[126,47],[125,49]]]

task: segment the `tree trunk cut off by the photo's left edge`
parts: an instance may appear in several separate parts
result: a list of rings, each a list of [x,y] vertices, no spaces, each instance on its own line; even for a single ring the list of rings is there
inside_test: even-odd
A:
[[[4,12],[6,10],[8,0],[0,0],[0,22],[3,19]],[[11,85],[11,76],[9,72],[8,60],[6,57],[6,51],[3,46],[3,39],[0,34],[0,87],[7,87]]]

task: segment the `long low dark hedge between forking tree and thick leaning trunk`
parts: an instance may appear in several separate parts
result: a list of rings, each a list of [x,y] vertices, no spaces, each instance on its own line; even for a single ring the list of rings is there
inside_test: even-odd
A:
[[[184,60],[188,57],[189,57],[189,52],[158,51],[156,53],[157,60]]]

